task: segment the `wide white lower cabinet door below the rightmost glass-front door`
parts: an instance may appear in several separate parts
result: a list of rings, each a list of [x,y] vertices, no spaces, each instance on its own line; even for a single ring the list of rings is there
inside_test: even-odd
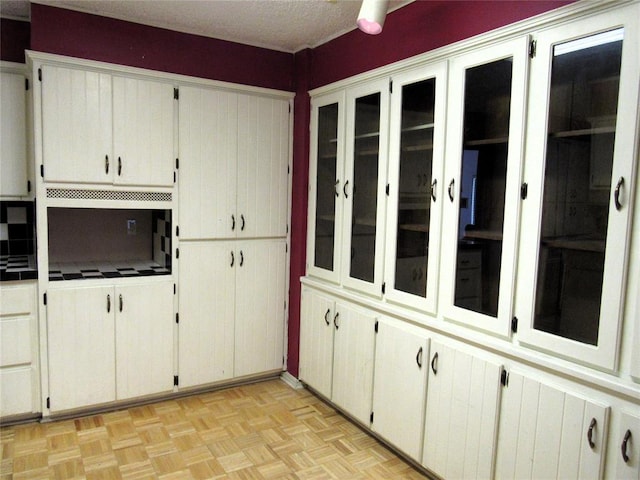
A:
[[[511,372],[497,478],[601,478],[609,408]]]

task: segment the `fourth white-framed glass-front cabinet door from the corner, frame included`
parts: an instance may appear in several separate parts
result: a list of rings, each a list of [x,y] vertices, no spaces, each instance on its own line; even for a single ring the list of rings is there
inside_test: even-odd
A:
[[[445,318],[509,335],[528,39],[451,61],[442,239]]]

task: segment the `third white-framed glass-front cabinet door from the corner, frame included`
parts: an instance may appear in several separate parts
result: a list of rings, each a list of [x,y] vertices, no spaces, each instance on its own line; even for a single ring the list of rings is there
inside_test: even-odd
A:
[[[443,201],[446,64],[393,77],[385,284],[388,299],[434,314]]]

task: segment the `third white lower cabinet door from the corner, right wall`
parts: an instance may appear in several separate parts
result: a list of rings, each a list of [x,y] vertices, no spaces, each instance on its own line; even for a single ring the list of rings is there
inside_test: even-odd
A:
[[[411,458],[422,458],[429,339],[380,320],[376,335],[371,428]]]

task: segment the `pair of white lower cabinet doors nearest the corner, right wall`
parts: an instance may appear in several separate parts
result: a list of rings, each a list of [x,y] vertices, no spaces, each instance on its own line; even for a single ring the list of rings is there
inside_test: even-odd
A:
[[[376,317],[362,307],[304,289],[300,379],[364,425],[373,392]]]

